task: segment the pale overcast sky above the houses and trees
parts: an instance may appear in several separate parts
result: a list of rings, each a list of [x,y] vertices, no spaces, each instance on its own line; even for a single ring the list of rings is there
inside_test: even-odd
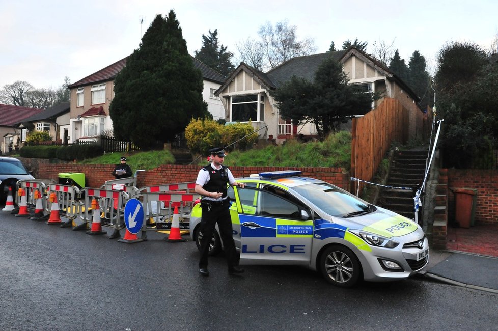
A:
[[[35,88],[57,88],[65,76],[76,82],[131,54],[154,17],[171,9],[192,55],[215,29],[236,53],[268,21],[296,25],[317,53],[331,41],[339,49],[348,39],[368,41],[370,53],[374,42],[394,41],[406,63],[419,50],[431,67],[446,42],[489,49],[498,34],[496,0],[0,0],[0,89],[16,80]]]

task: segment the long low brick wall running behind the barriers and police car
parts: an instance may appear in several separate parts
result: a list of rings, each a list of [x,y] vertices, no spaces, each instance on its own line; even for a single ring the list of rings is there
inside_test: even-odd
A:
[[[59,173],[84,173],[86,187],[100,187],[106,180],[114,179],[111,172],[114,169],[112,164],[48,164],[38,165],[37,176],[35,178],[52,178],[58,180]],[[168,183],[193,182],[201,168],[199,166],[180,166],[174,164],[164,164],[153,170],[137,173],[137,186],[151,186]],[[230,167],[233,175],[237,177],[248,177],[251,174],[265,171],[278,170],[301,170],[303,176],[314,177],[343,189],[348,189],[350,175],[342,168],[297,168],[297,167]]]

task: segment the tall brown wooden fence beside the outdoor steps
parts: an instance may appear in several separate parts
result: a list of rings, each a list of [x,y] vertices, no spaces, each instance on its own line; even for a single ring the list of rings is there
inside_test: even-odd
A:
[[[408,110],[393,98],[385,98],[365,116],[353,118],[351,177],[370,181],[391,143],[408,141],[409,124]],[[351,192],[356,191],[357,185],[357,182],[351,182]]]

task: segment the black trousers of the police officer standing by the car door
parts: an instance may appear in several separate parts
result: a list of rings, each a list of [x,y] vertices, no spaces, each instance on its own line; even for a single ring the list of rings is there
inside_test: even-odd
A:
[[[201,257],[199,267],[205,268],[208,265],[209,244],[213,237],[214,228],[218,223],[219,236],[223,241],[225,255],[227,256],[228,267],[238,265],[238,259],[235,251],[235,242],[233,241],[232,219],[230,217],[230,201],[226,199],[224,203],[206,204],[202,203],[201,218]]]

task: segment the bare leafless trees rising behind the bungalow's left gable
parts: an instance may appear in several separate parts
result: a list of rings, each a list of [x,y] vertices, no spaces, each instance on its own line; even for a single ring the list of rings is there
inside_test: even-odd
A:
[[[254,65],[259,70],[279,66],[284,61],[298,56],[309,55],[316,50],[313,38],[297,40],[297,27],[287,21],[278,22],[273,27],[270,22],[261,25],[259,40],[247,39],[237,45],[242,61]]]

